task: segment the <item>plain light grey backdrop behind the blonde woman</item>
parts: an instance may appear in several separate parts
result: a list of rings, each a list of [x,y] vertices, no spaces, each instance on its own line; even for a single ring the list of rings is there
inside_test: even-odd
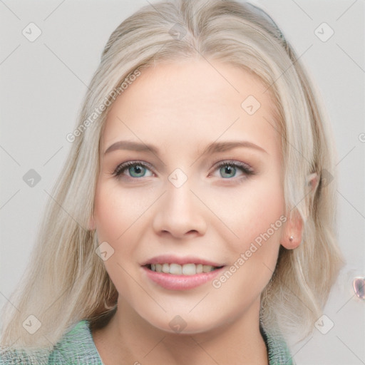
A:
[[[146,4],[0,0],[0,305],[29,260],[48,193],[70,148],[66,135],[75,128],[103,46],[126,16]],[[338,150],[337,233],[346,267],[324,309],[333,327],[327,334],[314,329],[294,345],[294,360],[365,364],[365,301],[351,288],[351,279],[365,276],[364,0],[257,4],[277,21],[316,81]],[[22,33],[29,23],[41,29],[33,42]],[[24,181],[31,169],[41,178],[34,187]]]

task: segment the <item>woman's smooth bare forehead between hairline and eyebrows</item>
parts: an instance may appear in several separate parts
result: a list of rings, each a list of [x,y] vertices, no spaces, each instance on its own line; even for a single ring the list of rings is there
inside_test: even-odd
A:
[[[242,68],[203,59],[158,63],[113,103],[103,148],[120,138],[161,148],[244,138],[274,150],[275,110],[267,87]]]

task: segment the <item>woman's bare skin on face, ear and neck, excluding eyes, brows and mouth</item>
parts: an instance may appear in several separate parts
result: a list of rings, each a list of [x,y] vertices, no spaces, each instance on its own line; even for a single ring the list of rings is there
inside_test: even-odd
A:
[[[90,223],[99,242],[113,247],[105,266],[119,293],[113,318],[93,331],[104,364],[268,364],[259,333],[260,294],[279,246],[294,249],[301,241],[298,217],[277,228],[219,289],[212,282],[164,289],[140,266],[171,254],[230,267],[285,216],[280,135],[272,127],[275,106],[265,89],[240,68],[190,59],[143,69],[110,109]],[[247,96],[261,104],[253,115],[241,107]],[[120,140],[153,145],[158,152],[105,154]],[[212,142],[243,140],[261,149],[204,153]],[[128,168],[119,178],[113,175],[129,160],[151,168],[140,178],[129,176]],[[223,178],[217,163],[227,160],[248,164],[255,174],[237,168]],[[176,168],[187,177],[180,187],[168,180]],[[181,333],[169,325],[176,315],[187,324]]]

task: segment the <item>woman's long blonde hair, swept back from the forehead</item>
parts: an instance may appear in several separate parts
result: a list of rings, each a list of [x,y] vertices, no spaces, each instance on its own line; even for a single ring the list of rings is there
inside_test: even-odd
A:
[[[2,346],[53,346],[72,324],[97,322],[115,310],[118,292],[96,255],[96,232],[88,228],[106,115],[115,91],[122,93],[120,86],[136,70],[143,75],[155,63],[199,57],[255,73],[274,97],[276,124],[267,122],[282,135],[284,200],[287,212],[302,217],[304,234],[297,249],[279,251],[262,292],[262,323],[301,334],[312,331],[342,262],[334,235],[335,179],[328,179],[335,178],[334,146],[320,98],[291,46],[262,11],[230,0],[178,0],[143,7],[111,34],[31,262],[11,297],[15,307],[5,308]],[[314,195],[306,183],[310,173],[321,177]],[[22,327],[29,315],[41,322],[33,335]]]

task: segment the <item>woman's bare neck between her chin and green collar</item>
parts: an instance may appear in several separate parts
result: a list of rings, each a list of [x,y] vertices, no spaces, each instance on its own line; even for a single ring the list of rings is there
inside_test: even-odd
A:
[[[93,339],[104,365],[268,364],[259,331],[259,301],[243,317],[194,334],[162,331],[119,301],[106,327],[93,331]]]

